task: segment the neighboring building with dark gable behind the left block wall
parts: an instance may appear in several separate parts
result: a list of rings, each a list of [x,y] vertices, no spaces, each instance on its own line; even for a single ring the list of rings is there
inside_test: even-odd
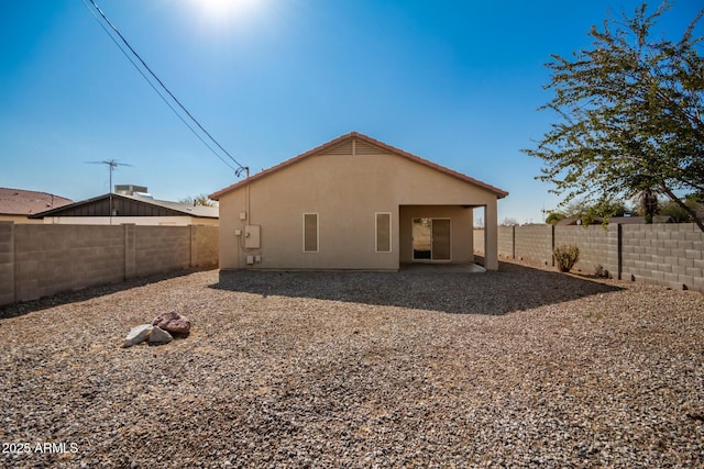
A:
[[[146,188],[143,188],[146,189]],[[112,216],[110,215],[112,213]],[[154,200],[151,196],[106,193],[31,216],[44,223],[107,225],[217,225],[218,208]]]

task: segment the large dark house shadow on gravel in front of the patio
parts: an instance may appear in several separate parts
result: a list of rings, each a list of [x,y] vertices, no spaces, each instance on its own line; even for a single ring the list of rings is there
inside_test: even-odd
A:
[[[506,314],[620,290],[598,281],[517,264],[498,271],[221,271],[213,289],[432,310],[452,314]]]

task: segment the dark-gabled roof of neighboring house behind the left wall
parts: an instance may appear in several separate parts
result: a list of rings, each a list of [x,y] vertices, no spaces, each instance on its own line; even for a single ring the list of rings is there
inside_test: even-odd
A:
[[[217,206],[190,205],[188,203],[154,200],[142,197],[112,194],[113,208],[119,210],[118,216],[196,216],[201,219],[218,219]],[[110,194],[98,196],[69,205],[47,210],[31,219],[45,216],[109,216]]]

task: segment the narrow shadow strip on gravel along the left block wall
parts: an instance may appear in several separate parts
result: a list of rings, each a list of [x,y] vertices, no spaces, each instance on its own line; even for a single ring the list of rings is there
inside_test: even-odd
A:
[[[139,277],[120,283],[108,283],[96,287],[87,287],[76,291],[65,291],[62,293],[42,297],[37,300],[20,301],[16,303],[0,305],[0,320],[18,317],[24,314],[42,311],[63,304],[87,301],[106,294],[117,293],[131,288],[143,287],[145,284],[155,283],[162,280],[168,280],[177,277],[188,276],[200,271],[198,269],[172,270],[169,272],[154,273],[152,276]]]

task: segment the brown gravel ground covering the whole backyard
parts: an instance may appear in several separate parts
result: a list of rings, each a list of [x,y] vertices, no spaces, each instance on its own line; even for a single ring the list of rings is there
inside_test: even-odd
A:
[[[704,467],[704,295],[662,287],[189,272],[2,308],[0,347],[2,467]]]

